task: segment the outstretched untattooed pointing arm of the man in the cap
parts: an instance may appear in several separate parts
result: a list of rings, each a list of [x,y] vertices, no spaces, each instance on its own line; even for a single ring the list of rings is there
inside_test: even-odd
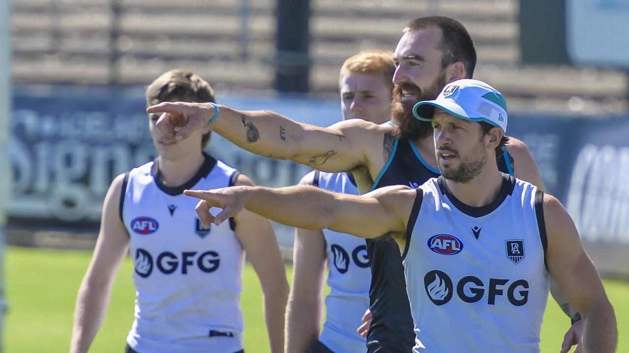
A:
[[[186,190],[200,198],[196,207],[204,225],[220,224],[243,208],[270,220],[303,229],[331,229],[365,238],[406,232],[416,191],[379,188],[362,196],[328,192],[308,185],[284,188],[231,187]],[[211,207],[223,209],[216,217]]]

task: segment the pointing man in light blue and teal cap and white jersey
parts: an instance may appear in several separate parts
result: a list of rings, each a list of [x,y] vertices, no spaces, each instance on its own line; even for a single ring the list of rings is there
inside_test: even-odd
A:
[[[413,114],[431,121],[442,173],[417,189],[185,193],[201,198],[197,212],[206,226],[245,208],[304,229],[391,236],[404,259],[414,352],[539,352],[550,274],[582,314],[584,350],[613,352],[613,308],[570,215],[556,198],[498,170],[495,150],[508,121],[502,95],[484,82],[456,80]],[[223,211],[213,216],[210,207]]]

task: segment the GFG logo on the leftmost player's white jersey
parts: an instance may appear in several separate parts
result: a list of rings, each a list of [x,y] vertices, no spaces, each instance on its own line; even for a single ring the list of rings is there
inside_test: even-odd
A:
[[[187,274],[189,267],[196,264],[196,268],[205,273],[211,273],[218,269],[220,258],[216,251],[206,251],[197,256],[198,251],[182,251],[181,256],[177,256],[170,251],[160,253],[153,262],[153,256],[138,247],[135,251],[135,273],[140,277],[147,278],[157,268],[163,274],[175,273],[181,268],[181,274]]]

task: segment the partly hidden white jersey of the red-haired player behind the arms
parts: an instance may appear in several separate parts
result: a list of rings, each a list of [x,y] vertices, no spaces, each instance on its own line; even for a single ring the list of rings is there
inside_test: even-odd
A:
[[[359,195],[347,173],[313,172],[313,178],[316,175],[320,188]],[[365,240],[330,229],[324,229],[323,236],[330,294],[325,298],[326,320],[319,340],[333,352],[365,352],[365,338],[356,332],[369,308],[371,269]]]

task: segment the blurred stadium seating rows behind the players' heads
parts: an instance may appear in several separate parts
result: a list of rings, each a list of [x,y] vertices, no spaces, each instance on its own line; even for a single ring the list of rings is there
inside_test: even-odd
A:
[[[269,90],[274,0],[14,0],[16,82],[146,84],[174,67],[221,90]],[[626,73],[520,65],[516,0],[311,0],[311,94],[336,94],[338,68],[365,48],[393,50],[409,19],[459,19],[477,44],[476,78],[513,111],[629,111]]]

